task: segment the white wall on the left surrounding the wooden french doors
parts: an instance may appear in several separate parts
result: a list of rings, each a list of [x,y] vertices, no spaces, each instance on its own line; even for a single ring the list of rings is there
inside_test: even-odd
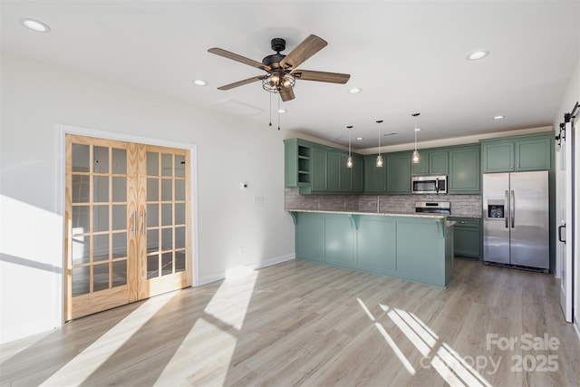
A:
[[[0,343],[62,322],[57,124],[197,146],[201,283],[228,267],[294,257],[294,224],[284,211],[284,131],[8,53],[1,82]],[[240,189],[243,181],[248,189]]]

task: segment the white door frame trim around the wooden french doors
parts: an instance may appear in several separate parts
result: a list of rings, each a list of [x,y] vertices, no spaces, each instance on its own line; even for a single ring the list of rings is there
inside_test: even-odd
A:
[[[64,124],[57,124],[57,157],[56,157],[56,209],[58,215],[62,218],[62,245],[61,245],[61,253],[62,253],[62,267],[66,266],[66,254],[64,251],[64,235],[65,235],[65,224],[64,224],[64,210],[66,208],[65,202],[65,186],[66,186],[66,134],[76,134],[81,136],[87,137],[96,137],[100,139],[106,140],[120,140],[126,142],[135,142],[140,144],[146,145],[153,145],[153,146],[160,146],[160,147],[167,147],[167,148],[177,148],[182,150],[189,150],[189,165],[191,166],[189,171],[189,202],[190,202],[190,219],[191,219],[191,227],[190,227],[190,237],[191,237],[191,285],[198,286],[199,285],[199,270],[198,270],[198,146],[195,144],[191,144],[188,142],[177,142],[172,140],[160,140],[160,139],[153,139],[149,137],[141,137],[133,134],[127,133],[117,133],[112,131],[99,131],[89,128],[83,128],[73,125],[64,125]],[[59,289],[59,294],[61,295],[59,300],[59,308],[57,313],[58,316],[56,317],[56,321],[60,321],[60,324],[63,325],[65,322],[64,316],[64,297],[65,297],[65,280],[66,276],[64,272],[61,272],[59,276],[60,283],[55,284]]]

